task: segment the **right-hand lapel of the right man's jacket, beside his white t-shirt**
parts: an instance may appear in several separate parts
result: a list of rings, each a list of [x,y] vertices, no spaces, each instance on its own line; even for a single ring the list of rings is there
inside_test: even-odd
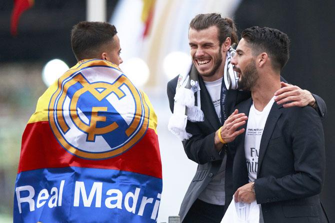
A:
[[[278,121],[278,118],[281,115],[280,108],[282,108],[282,105],[277,105],[277,103],[273,103],[270,113],[267,116],[263,134],[261,136],[260,145],[259,145],[259,156],[258,156],[258,166],[257,166],[257,177],[259,174],[261,162],[263,160],[264,154],[267,149],[268,142],[270,141],[272,132],[274,130],[275,124]]]

